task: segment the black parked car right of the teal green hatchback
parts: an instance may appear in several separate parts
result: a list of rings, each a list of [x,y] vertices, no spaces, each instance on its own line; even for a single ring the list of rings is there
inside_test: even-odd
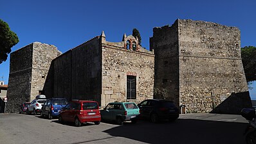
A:
[[[144,100],[138,104],[140,117],[149,118],[157,123],[159,120],[169,119],[174,121],[179,118],[179,109],[174,102],[163,99]]]

